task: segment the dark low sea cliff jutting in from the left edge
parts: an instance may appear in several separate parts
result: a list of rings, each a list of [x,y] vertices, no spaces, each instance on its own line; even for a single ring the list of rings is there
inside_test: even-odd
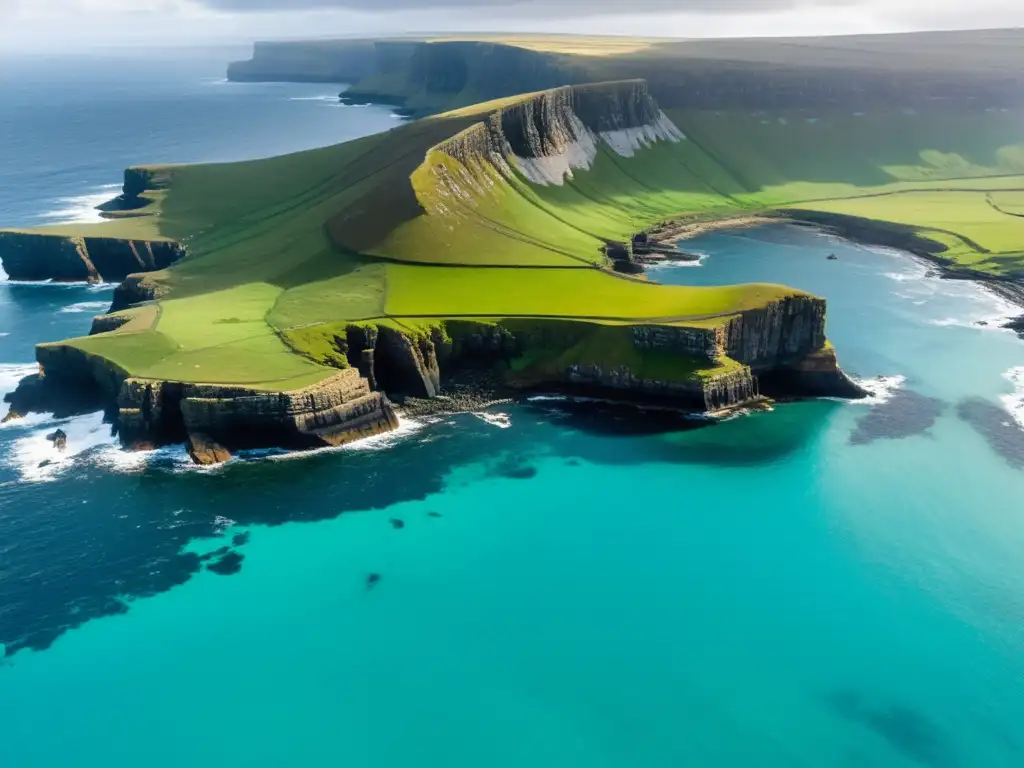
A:
[[[0,231],[0,260],[11,280],[113,283],[131,272],[164,269],[183,253],[165,241]]]

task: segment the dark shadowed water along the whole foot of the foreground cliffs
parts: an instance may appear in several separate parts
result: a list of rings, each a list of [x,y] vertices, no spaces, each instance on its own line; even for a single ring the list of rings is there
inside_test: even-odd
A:
[[[210,546],[219,548],[223,519],[218,516],[246,528],[382,510],[442,492],[450,470],[477,462],[488,472],[498,467],[513,479],[528,479],[537,473],[538,445],[566,460],[607,465],[761,464],[814,439],[833,408],[838,406],[797,403],[707,429],[687,422],[682,432],[679,421],[658,412],[640,430],[645,434],[630,436],[623,436],[629,420],[608,429],[578,429],[557,414],[530,409],[536,418],[516,420],[515,429],[496,430],[457,417],[432,426],[429,440],[300,462],[243,461],[215,475],[177,472],[159,460],[130,475],[76,464],[56,482],[0,486],[0,529],[13,543],[0,578],[0,643],[8,656],[25,648],[44,650],[69,630],[125,612],[126,602],[184,584],[213,563],[187,545],[210,539]],[[666,418],[669,423],[658,424]],[[655,431],[659,437],[649,436]],[[509,457],[513,460],[506,463]],[[46,515],[24,513],[37,508]],[[244,546],[242,539],[232,538],[231,544]],[[226,554],[216,551],[216,557]],[[227,568],[232,560],[217,567]]]

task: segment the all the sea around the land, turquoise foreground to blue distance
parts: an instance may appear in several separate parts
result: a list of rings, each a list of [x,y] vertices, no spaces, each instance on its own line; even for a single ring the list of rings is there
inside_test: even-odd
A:
[[[0,224],[395,122],[221,77],[5,69]],[[711,427],[539,400],[212,471],[98,416],[63,458],[58,422],[0,428],[0,766],[1024,765],[1013,307],[792,226],[687,249],[651,276],[826,297],[876,395]],[[0,284],[0,391],[110,296]]]

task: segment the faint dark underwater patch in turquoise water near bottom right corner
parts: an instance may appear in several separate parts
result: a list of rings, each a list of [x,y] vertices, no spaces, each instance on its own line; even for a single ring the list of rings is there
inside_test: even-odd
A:
[[[946,733],[924,712],[904,705],[872,705],[854,691],[825,696],[836,714],[867,728],[896,752],[927,768],[958,765]]]

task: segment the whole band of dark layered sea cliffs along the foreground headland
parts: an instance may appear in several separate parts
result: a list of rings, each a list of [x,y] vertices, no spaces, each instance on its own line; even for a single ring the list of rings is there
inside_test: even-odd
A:
[[[717,327],[651,324],[624,330],[641,352],[669,352],[686,365],[707,361],[696,375],[651,376],[631,364],[602,364],[600,357],[573,360],[569,351],[559,358],[564,360],[561,370],[545,369],[547,373],[519,385],[669,400],[701,412],[757,402],[762,389],[772,396],[863,396],[840,371],[824,340],[824,309],[821,299],[795,295]],[[111,418],[125,445],[188,441],[198,460],[206,462],[240,449],[339,445],[386,432],[398,422],[380,390],[433,397],[441,391],[442,368],[452,374],[487,370],[528,356],[530,350],[572,350],[594,332],[588,324],[546,321],[453,322],[418,333],[351,326],[336,341],[353,367],[316,385],[278,392],[131,378],[72,345],[45,344],[37,348],[41,376],[28,380],[10,399],[12,411],[22,414],[47,410],[57,391],[88,392],[92,402],[116,403]],[[721,365],[726,358],[732,362]],[[714,373],[716,365],[721,366],[719,374]]]

